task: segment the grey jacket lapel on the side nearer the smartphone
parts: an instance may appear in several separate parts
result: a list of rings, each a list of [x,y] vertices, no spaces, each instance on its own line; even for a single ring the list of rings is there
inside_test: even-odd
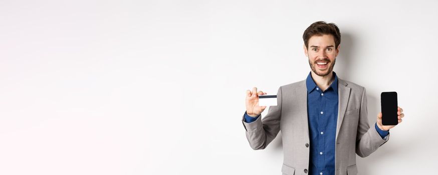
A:
[[[347,110],[348,99],[350,98],[350,87],[347,87],[347,82],[338,77],[338,94],[339,94],[339,109],[338,121],[336,124],[336,141],[341,128],[342,120],[344,119],[345,110]]]

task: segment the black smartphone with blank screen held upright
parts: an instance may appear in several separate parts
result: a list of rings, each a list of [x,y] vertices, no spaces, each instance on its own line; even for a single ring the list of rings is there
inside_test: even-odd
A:
[[[380,103],[382,107],[382,124],[397,125],[397,92],[382,92],[380,94]]]

